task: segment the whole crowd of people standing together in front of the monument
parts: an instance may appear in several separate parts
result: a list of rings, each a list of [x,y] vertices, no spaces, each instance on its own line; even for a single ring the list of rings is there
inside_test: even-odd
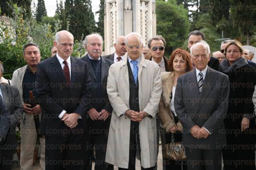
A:
[[[136,159],[157,170],[159,146],[163,170],[256,170],[253,52],[229,39],[211,53],[198,30],[169,58],[161,35],[143,42],[119,36],[102,56],[103,38],[92,33],[87,54],[74,58],[74,37],[62,30],[44,61],[25,44],[27,64],[12,80],[0,63],[0,170],[12,168],[18,124],[21,170],[32,170],[37,137],[42,170],[91,170],[93,161],[95,170],[135,170]],[[174,142],[186,159],[164,157]]]

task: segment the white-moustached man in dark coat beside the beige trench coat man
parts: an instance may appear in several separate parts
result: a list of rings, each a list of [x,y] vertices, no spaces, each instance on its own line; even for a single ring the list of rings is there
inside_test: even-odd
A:
[[[109,75],[109,67],[113,61],[101,57],[103,48],[103,38],[98,33],[87,35],[84,39],[84,48],[88,54],[81,60],[87,62],[90,72],[90,92],[91,104],[88,108],[89,132],[85,134],[85,143],[89,148],[89,153],[85,153],[85,160],[92,158],[93,148],[95,148],[94,170],[113,170],[113,166],[105,164],[106,145],[110,124],[110,113],[112,106],[109,102],[106,91],[106,83]],[[91,170],[91,162],[89,169]]]

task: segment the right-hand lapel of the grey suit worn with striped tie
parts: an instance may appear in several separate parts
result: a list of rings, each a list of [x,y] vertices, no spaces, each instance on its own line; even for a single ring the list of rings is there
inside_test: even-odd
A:
[[[205,100],[209,94],[209,92],[212,90],[213,85],[215,84],[215,74],[214,72],[212,72],[211,68],[208,66],[206,75],[205,75],[205,79],[203,81],[203,89],[202,92],[200,94],[200,98]],[[206,100],[205,100],[206,101]],[[200,107],[202,106],[203,102],[200,102],[198,107],[197,107],[197,111],[200,109]]]

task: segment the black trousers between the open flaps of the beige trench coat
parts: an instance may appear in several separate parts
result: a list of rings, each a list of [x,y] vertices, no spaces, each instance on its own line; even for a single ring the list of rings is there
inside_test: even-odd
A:
[[[128,169],[119,167],[118,168],[119,170],[135,170],[136,152],[138,151],[140,155],[139,123],[140,122],[137,122],[137,121],[131,121]],[[150,168],[141,167],[141,170],[153,170],[153,169],[154,167],[150,167]]]

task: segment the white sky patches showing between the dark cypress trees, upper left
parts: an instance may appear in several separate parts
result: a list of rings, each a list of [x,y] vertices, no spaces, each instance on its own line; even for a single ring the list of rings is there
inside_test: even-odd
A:
[[[60,0],[58,0],[59,3]],[[65,2],[65,0],[63,0]],[[94,18],[95,21],[98,21],[98,17],[99,15],[95,15],[95,12],[98,11],[100,9],[99,5],[100,5],[100,0],[91,0],[91,6],[92,6],[92,11],[94,12]],[[33,2],[37,5],[37,0],[32,0],[31,3],[31,8],[33,8]],[[64,3],[63,2],[63,3]],[[45,8],[47,10],[47,15],[48,16],[54,16],[55,11],[56,11],[56,0],[44,0],[45,3]],[[64,4],[63,4],[64,6]]]

